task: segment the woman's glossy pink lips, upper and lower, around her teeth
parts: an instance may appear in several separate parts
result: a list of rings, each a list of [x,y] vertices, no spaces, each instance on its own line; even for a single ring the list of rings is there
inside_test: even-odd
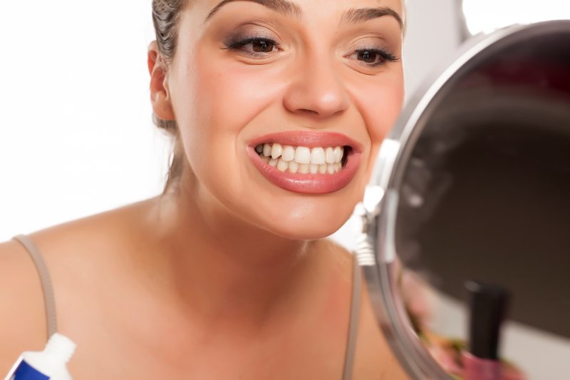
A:
[[[307,148],[327,146],[350,146],[351,152],[346,158],[346,165],[335,174],[291,174],[281,172],[261,160],[255,147],[261,143],[280,143],[283,145],[306,146]],[[345,188],[353,180],[361,162],[361,148],[358,143],[340,133],[294,132],[275,133],[262,136],[252,141],[247,147],[247,154],[259,172],[271,183],[292,192],[305,194],[328,194]]]

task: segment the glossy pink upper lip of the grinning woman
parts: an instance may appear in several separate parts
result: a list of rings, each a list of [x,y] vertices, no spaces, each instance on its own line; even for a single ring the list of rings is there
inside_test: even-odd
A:
[[[361,152],[361,144],[347,135],[336,132],[322,132],[309,130],[291,130],[287,132],[270,133],[254,138],[249,145],[256,147],[264,143],[279,143],[281,145],[304,146],[318,148],[328,146],[350,146],[356,153]]]

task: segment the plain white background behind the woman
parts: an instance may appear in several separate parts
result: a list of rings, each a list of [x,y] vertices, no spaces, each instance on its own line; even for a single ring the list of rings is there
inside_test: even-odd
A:
[[[410,93],[459,40],[453,0],[408,3]],[[0,0],[0,241],[160,193],[152,38],[150,0]]]

